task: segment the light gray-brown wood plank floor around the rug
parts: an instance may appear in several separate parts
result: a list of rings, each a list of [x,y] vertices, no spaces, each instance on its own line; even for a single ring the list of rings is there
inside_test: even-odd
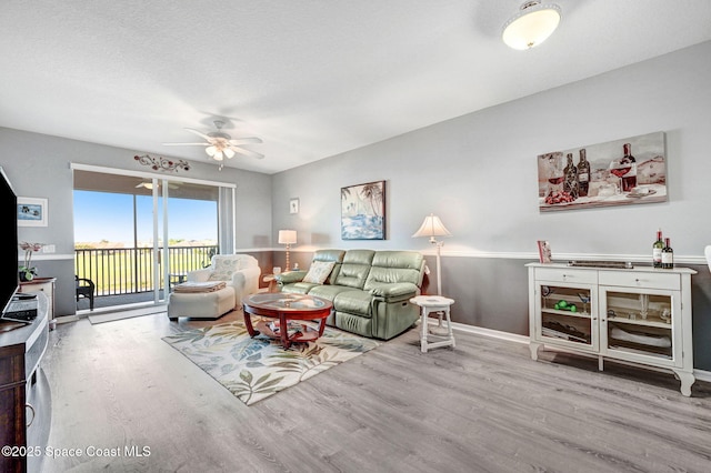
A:
[[[44,457],[42,471],[711,471],[709,383],[684,397],[671,374],[600,373],[554,352],[533,362],[527,345],[459,332],[457,349],[423,354],[411,330],[248,407],[161,341],[207,323],[58,325],[49,445],[84,456]]]

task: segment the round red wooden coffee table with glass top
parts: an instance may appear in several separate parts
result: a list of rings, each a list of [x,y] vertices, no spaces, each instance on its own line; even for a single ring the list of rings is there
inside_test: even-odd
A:
[[[250,336],[263,333],[281,340],[284,349],[294,342],[310,342],[323,335],[326,319],[331,314],[333,304],[321,298],[307,294],[283,292],[257,293],[242,301],[244,325]],[[252,326],[252,315],[262,319]],[[264,320],[263,318],[274,319]],[[298,321],[319,320],[318,330]],[[286,330],[284,330],[286,329]]]

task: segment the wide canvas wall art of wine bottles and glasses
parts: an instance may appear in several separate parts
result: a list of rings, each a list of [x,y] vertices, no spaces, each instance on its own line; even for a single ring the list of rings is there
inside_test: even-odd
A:
[[[664,133],[538,155],[541,212],[667,201]]]

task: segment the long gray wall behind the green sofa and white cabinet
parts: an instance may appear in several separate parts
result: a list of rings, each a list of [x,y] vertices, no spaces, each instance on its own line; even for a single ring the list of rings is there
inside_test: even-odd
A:
[[[453,234],[442,249],[442,285],[457,300],[454,320],[527,335],[523,265],[538,259],[537,240],[550,241],[554,259],[648,264],[661,228],[677,263],[700,271],[692,279],[694,364],[711,371],[702,258],[711,244],[710,57],[705,42],[276,174],[273,232],[298,230],[297,252],[419,250],[433,270],[429,243],[411,234],[434,212]],[[539,212],[538,154],[654,131],[667,137],[668,202]],[[388,239],[341,241],[340,188],[378,180],[388,184]],[[300,199],[299,214],[289,214],[290,198]]]

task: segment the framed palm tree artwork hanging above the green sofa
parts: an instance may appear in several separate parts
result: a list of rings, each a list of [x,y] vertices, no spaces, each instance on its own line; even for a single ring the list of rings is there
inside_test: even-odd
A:
[[[385,239],[385,181],[341,188],[341,239]]]

